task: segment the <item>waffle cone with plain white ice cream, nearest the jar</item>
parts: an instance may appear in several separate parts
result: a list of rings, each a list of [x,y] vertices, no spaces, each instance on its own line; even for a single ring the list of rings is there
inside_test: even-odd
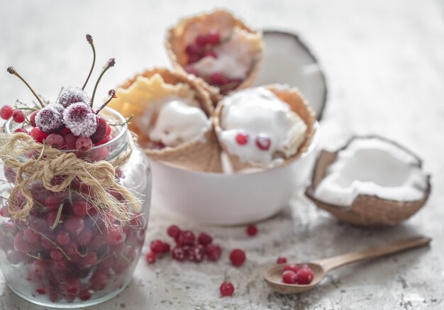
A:
[[[213,105],[198,83],[181,72],[147,70],[118,87],[109,106],[123,116],[133,115],[129,128],[148,157],[189,170],[221,172]]]

